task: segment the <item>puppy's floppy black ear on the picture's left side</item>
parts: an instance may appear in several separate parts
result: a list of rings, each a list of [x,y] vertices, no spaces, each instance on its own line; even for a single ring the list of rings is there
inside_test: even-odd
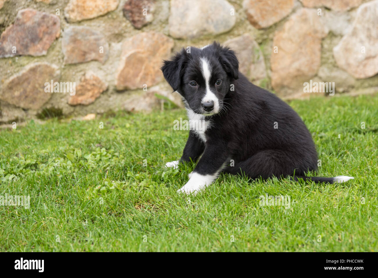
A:
[[[177,52],[171,60],[164,60],[164,64],[161,67],[164,78],[174,91],[177,91],[178,88],[180,88],[186,62],[187,53],[183,48],[181,51]]]

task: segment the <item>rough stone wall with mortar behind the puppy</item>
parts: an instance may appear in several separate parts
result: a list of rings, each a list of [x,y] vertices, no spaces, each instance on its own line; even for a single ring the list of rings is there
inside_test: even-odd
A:
[[[162,60],[214,40],[285,99],[378,91],[378,0],[0,0],[0,33],[0,123],[180,103]]]

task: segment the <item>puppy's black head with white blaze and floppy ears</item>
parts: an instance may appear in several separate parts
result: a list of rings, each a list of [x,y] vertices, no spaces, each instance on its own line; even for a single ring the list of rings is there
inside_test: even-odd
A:
[[[182,49],[165,60],[161,68],[174,91],[181,94],[187,109],[210,116],[224,108],[233,80],[238,79],[239,62],[229,47],[212,43],[203,48]]]

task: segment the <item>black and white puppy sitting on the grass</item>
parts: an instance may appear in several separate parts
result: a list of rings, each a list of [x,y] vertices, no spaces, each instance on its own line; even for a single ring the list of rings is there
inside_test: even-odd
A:
[[[182,49],[161,68],[170,86],[181,94],[191,129],[180,161],[197,161],[189,181],[178,192],[210,185],[221,171],[251,179],[286,178],[344,182],[353,177],[307,177],[318,155],[302,119],[276,95],[253,85],[239,72],[229,47],[212,43]],[[200,124],[197,124],[200,122]]]

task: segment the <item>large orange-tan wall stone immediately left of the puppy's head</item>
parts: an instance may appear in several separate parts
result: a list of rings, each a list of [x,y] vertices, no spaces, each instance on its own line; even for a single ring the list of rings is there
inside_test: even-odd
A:
[[[160,67],[168,59],[174,41],[164,34],[143,32],[122,43],[122,54],[116,73],[117,90],[143,88],[163,80]]]

